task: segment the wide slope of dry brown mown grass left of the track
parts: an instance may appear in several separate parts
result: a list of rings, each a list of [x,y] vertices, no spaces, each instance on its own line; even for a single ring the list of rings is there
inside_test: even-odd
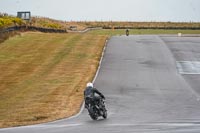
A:
[[[76,114],[105,35],[27,32],[0,44],[0,127]]]

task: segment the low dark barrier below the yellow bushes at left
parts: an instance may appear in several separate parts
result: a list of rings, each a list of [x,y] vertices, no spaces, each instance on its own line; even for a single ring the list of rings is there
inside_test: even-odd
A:
[[[42,28],[35,26],[13,26],[4,29],[0,29],[0,33],[12,32],[12,31],[40,31],[45,33],[67,33],[66,30],[62,29],[51,29],[51,28]]]

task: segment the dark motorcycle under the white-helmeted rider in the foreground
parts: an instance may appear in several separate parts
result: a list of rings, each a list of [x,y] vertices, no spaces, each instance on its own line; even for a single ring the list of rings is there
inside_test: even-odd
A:
[[[86,97],[86,102],[89,103],[87,105],[88,113],[93,120],[97,120],[98,117],[107,118],[107,110],[105,107],[105,100],[99,98],[98,100],[94,100],[94,98]]]

